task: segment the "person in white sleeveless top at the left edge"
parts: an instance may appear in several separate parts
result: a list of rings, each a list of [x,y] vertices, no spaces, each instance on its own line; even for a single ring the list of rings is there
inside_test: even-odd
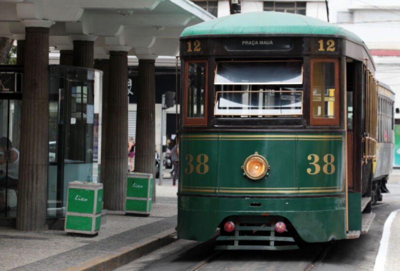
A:
[[[13,145],[7,137],[0,138],[0,165],[7,165],[7,180],[5,177],[5,169],[4,172],[0,170],[0,212],[5,210],[5,201],[4,195],[1,193],[1,190],[6,189],[14,189],[16,190],[18,187],[18,168],[19,168],[19,151],[16,148],[13,148]],[[5,167],[4,167],[5,168]]]

